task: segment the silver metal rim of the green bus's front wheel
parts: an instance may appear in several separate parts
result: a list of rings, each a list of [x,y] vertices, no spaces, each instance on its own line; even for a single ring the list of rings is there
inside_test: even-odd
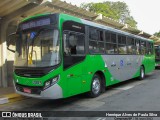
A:
[[[94,94],[98,94],[100,91],[100,81],[98,78],[95,78],[92,83],[92,91]]]

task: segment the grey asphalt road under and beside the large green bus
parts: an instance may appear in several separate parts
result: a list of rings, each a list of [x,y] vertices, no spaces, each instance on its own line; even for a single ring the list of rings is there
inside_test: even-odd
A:
[[[97,98],[78,95],[62,100],[39,100],[28,98],[5,106],[0,110],[9,111],[160,111],[160,70],[148,74],[145,80],[129,80],[107,88]],[[50,118],[51,120],[53,118]],[[56,120],[60,118],[55,118]],[[81,118],[65,118],[81,120]],[[111,118],[86,118],[112,120]],[[160,118],[154,118],[153,120]],[[114,119],[113,119],[114,120]],[[145,120],[145,119],[144,119]],[[148,120],[148,119],[146,119]]]

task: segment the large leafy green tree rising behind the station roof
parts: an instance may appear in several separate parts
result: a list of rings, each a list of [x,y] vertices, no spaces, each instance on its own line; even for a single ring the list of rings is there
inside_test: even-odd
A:
[[[124,2],[105,1],[101,3],[82,3],[80,7],[91,12],[101,13],[103,16],[118,20],[131,27],[137,27],[137,22],[130,15],[128,6]]]

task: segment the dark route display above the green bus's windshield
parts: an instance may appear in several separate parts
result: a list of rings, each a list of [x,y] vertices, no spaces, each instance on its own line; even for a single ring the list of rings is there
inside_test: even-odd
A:
[[[34,21],[27,22],[27,23],[23,23],[21,25],[21,30],[40,27],[40,26],[44,26],[44,25],[50,25],[50,23],[51,23],[50,18],[43,18],[43,19],[39,19],[39,20],[34,20]]]

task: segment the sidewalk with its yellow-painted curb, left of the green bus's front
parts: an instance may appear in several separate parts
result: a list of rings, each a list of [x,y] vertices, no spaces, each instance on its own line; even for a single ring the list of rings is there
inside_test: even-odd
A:
[[[0,87],[0,105],[21,99],[24,99],[24,97],[16,94],[13,87]]]

